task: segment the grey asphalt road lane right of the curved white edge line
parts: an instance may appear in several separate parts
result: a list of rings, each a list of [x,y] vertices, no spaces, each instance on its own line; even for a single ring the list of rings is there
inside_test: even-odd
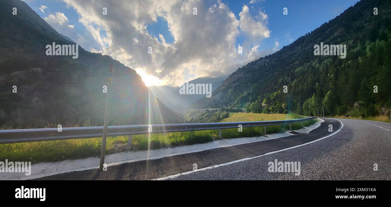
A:
[[[343,129],[318,142],[174,180],[390,180],[391,124],[339,120]],[[269,173],[268,163],[274,159],[300,161],[301,174]],[[378,171],[373,170],[375,163]]]

